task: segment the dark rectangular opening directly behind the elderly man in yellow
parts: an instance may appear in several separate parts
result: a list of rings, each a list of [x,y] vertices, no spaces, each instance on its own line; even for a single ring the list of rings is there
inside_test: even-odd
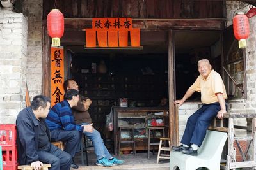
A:
[[[174,45],[176,99],[182,99],[199,76],[198,60],[209,59],[212,69],[221,75],[220,31],[175,31]],[[200,94],[195,92],[187,101],[200,101]]]

